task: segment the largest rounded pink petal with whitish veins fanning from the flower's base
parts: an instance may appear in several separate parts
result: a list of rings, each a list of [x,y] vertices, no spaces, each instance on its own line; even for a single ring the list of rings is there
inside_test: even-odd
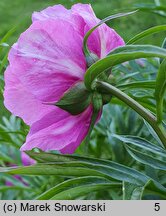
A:
[[[86,70],[82,38],[62,20],[34,22],[13,46],[9,62],[26,88],[46,102],[59,100]]]

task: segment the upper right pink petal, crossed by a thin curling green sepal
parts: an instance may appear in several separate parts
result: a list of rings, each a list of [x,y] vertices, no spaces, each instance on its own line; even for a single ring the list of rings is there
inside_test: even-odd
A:
[[[90,4],[75,4],[71,10],[84,19],[86,23],[85,34],[100,22]],[[89,49],[99,58],[105,57],[111,50],[124,44],[123,39],[106,24],[99,26],[88,39]]]

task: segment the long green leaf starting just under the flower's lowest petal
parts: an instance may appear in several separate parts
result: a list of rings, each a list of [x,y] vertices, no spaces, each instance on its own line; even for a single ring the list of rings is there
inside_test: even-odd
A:
[[[59,154],[52,154],[52,153],[45,153],[45,152],[35,153],[32,151],[29,151],[28,154],[30,157],[34,158],[40,163],[52,162],[54,163],[54,165],[56,164],[58,165],[59,163],[62,164],[68,163],[70,164],[69,166],[72,166],[75,162],[76,167],[79,164],[80,165],[82,164],[85,165],[86,168],[90,168],[95,171],[97,170],[100,171],[105,175],[105,177],[106,175],[108,175],[109,177],[111,177],[111,180],[123,181],[126,179],[126,181],[139,185],[142,184],[143,182],[146,182],[148,179],[147,176],[142,175],[141,173],[139,173],[134,169],[128,168],[126,166],[108,160],[70,156],[70,155],[59,155]]]

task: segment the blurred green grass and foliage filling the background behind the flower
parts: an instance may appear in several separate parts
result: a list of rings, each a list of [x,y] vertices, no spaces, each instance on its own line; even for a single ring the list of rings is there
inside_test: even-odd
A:
[[[31,14],[33,11],[40,11],[47,6],[54,4],[63,4],[70,8],[72,4],[77,2],[91,3],[96,15],[102,19],[110,14],[123,12],[127,9],[131,10],[140,3],[140,0],[0,0],[0,40],[13,28],[13,26],[17,26],[16,31],[12,33],[6,41],[9,45],[13,44],[14,41],[17,40],[19,34],[30,25]],[[154,4],[154,1],[147,0],[146,3]],[[166,4],[166,1],[162,0],[161,3],[164,5]],[[132,36],[149,27],[161,24],[165,24],[165,17],[154,13],[148,13],[147,11],[109,22],[109,25],[113,27],[125,41],[128,41]],[[164,33],[152,35],[140,41],[140,43],[161,46],[164,36]],[[0,49],[1,65],[7,51],[7,47],[3,48],[3,50]],[[113,73],[116,75],[120,84],[123,84],[128,80],[142,81],[145,79],[155,79],[159,67],[156,59],[149,59],[148,61],[143,62],[143,66],[137,63],[138,62],[131,61],[126,66],[120,65],[114,68]],[[0,71],[0,165],[3,167],[11,164],[21,165],[19,148],[24,142],[28,132],[28,127],[19,118],[12,116],[3,106],[3,72],[6,65],[7,61],[5,61],[5,64]],[[134,74],[134,76],[132,78],[128,77],[130,74]],[[151,111],[155,112],[155,102],[152,99],[154,93],[153,89],[139,89],[138,92],[138,89],[131,88],[127,90],[127,93],[138,102],[144,104]],[[108,118],[108,115],[110,118]],[[149,132],[151,129],[148,129],[149,126],[145,125],[143,120],[134,111],[126,108],[123,103],[114,99],[111,102],[111,106],[107,105],[104,108],[102,119],[93,130],[88,151],[85,150],[84,145],[81,145],[78,148],[76,155],[87,155],[117,162],[127,167],[134,168],[166,186],[166,173],[164,171],[158,171],[154,167],[136,161],[126,151],[123,142],[112,137],[113,133],[141,136],[157,145],[154,133]],[[8,174],[0,174],[0,199],[34,199],[47,189],[69,179],[69,177],[57,177],[55,175],[24,176],[23,181],[18,181]],[[12,182],[13,187],[5,186],[6,181]],[[131,193],[131,191],[135,190],[135,188],[138,189],[138,187],[133,187],[133,185],[132,187],[126,185],[125,181],[123,181],[123,188],[125,191],[129,191],[126,192],[127,196],[126,194],[123,194],[121,188],[122,185],[119,185],[110,190],[94,190],[88,194],[78,194],[77,196],[82,199],[132,199],[132,196],[130,195],[133,193]],[[144,190],[144,188],[142,190]],[[72,194],[71,191],[70,193]],[[77,196],[75,198],[77,198]],[[166,195],[164,196],[166,197]],[[61,199],[69,197],[69,192],[60,196]],[[160,193],[151,195],[145,194],[143,197],[141,197],[141,195],[133,195],[133,197],[135,199],[163,199],[162,196],[160,197]]]

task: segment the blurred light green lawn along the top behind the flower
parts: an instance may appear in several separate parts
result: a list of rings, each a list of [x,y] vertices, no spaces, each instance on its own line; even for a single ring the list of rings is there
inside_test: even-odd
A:
[[[154,0],[0,0],[0,38],[9,29],[21,22],[17,32],[11,38],[15,41],[19,34],[30,25],[30,17],[33,11],[40,11],[43,8],[55,4],[63,4],[67,8],[70,8],[72,4],[77,2],[91,3],[96,15],[101,19],[117,11],[123,12],[125,9],[130,10],[138,3],[154,4]],[[166,5],[166,0],[161,0],[160,2],[162,5]],[[151,26],[164,24],[164,22],[165,17],[147,12],[139,12],[129,17],[111,21],[109,25],[115,28],[125,41],[127,41],[136,33]],[[152,38],[146,39],[146,43],[160,45],[161,37],[154,35]]]

